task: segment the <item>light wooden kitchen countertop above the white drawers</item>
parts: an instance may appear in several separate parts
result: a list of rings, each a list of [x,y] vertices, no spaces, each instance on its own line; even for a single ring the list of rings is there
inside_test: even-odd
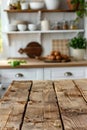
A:
[[[76,66],[87,66],[87,60],[83,61],[70,61],[70,62],[58,62],[58,63],[47,63],[43,60],[38,59],[27,59],[27,58],[20,58],[21,60],[26,60],[26,63],[17,66],[16,68],[43,68],[43,67],[76,67]],[[15,68],[11,67],[8,64],[10,60],[0,60],[0,68]]]

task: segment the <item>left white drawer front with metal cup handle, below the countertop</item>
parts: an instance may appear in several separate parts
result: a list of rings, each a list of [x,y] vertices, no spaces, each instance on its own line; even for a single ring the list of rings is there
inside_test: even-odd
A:
[[[13,80],[43,80],[42,68],[2,69],[2,84],[10,84]]]

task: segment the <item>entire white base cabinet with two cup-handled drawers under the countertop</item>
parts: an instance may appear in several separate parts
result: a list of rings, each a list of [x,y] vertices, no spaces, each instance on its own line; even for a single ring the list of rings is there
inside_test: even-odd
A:
[[[13,80],[61,80],[87,78],[87,67],[49,67],[27,69],[0,69],[3,87]]]

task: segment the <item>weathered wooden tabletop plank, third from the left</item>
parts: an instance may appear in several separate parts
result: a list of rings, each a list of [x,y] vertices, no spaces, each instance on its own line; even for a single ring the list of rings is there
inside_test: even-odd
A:
[[[75,80],[74,80],[75,81]],[[87,129],[87,104],[72,80],[55,81],[62,121],[65,130]]]

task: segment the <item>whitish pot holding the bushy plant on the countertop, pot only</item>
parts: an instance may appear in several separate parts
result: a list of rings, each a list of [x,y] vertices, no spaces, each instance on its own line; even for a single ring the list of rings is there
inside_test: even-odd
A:
[[[76,60],[83,60],[85,56],[85,49],[74,49],[70,47],[70,55]]]

